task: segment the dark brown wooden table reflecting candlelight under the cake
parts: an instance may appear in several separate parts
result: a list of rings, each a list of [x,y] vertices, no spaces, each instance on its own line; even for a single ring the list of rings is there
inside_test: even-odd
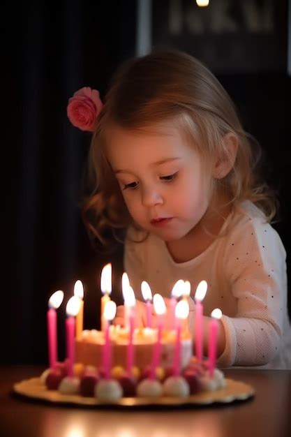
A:
[[[13,383],[38,376],[33,366],[0,367],[0,436],[5,437],[290,437],[291,371],[230,369],[255,388],[248,401],[177,410],[98,410],[14,397]]]

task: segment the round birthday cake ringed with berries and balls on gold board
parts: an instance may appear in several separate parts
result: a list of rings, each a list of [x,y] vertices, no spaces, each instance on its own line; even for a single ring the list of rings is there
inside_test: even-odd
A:
[[[193,356],[185,299],[177,302],[177,319],[169,329],[162,319],[155,327],[135,327],[133,318],[124,326],[111,325],[116,304],[107,297],[102,309],[105,327],[101,316],[98,331],[80,329],[82,321],[79,327],[75,324],[82,300],[75,295],[66,307],[66,360],[59,362],[55,309],[63,297],[60,290],[55,292],[47,312],[49,369],[39,378],[16,384],[15,392],[53,402],[113,406],[227,402],[253,394],[252,387],[225,378],[213,353],[207,358]],[[158,313],[164,302],[161,295],[155,299]]]

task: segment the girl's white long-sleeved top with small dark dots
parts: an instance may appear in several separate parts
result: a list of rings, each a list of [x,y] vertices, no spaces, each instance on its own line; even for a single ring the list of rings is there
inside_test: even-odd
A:
[[[220,366],[264,366],[291,369],[291,328],[287,306],[286,253],[278,233],[260,209],[243,202],[231,214],[221,236],[200,255],[174,262],[163,240],[155,235],[142,243],[130,229],[124,265],[137,299],[141,282],[153,293],[170,297],[178,279],[197,284],[206,280],[204,315],[218,307],[225,328],[226,347]]]

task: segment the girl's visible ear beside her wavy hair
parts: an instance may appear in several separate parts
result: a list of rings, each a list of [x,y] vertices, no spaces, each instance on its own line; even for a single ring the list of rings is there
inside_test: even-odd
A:
[[[222,179],[232,170],[239,147],[237,135],[233,133],[227,133],[223,141],[225,145],[223,153],[219,154],[214,162],[213,176],[216,179]]]

